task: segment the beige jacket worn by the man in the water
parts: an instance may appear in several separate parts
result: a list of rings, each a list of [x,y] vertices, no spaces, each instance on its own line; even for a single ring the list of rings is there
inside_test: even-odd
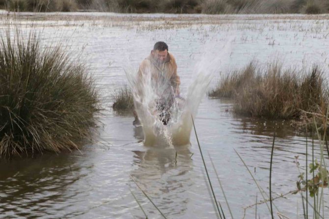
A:
[[[153,55],[150,54],[139,66],[138,81],[142,81],[148,74],[151,74],[151,80],[153,82],[170,82],[174,89],[174,93],[179,95],[179,85],[181,82],[177,75],[177,64],[173,55],[168,53],[164,62],[159,64],[156,59],[153,58]]]

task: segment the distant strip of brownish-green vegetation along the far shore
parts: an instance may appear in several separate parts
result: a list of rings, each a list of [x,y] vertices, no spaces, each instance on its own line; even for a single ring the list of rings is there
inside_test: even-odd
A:
[[[329,13],[328,0],[0,0],[11,11],[96,10],[118,13]]]

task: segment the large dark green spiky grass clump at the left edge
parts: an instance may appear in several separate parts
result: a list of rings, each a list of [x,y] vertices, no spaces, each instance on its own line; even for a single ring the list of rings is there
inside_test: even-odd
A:
[[[100,110],[91,76],[33,30],[9,29],[0,37],[0,157],[80,148]]]

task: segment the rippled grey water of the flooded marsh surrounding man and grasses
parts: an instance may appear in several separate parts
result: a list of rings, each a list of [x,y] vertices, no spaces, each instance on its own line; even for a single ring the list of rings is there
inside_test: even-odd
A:
[[[0,29],[8,22],[27,30],[33,26],[44,46],[61,43],[72,57],[80,57],[98,83],[104,111],[97,141],[81,151],[0,162],[0,218],[145,218],[132,193],[148,218],[162,218],[132,178],[167,218],[219,217],[193,131],[191,144],[145,147],[132,114],[111,109],[114,92],[128,83],[124,70],[136,71],[156,41],[165,41],[176,57],[183,97],[197,74],[211,74],[214,86],[220,75],[250,60],[265,64],[279,59],[284,66],[305,68],[317,63],[329,70],[329,15],[22,13],[14,18],[3,12]],[[306,136],[292,130],[289,121],[234,115],[232,104],[205,96],[195,118],[217,199],[230,218],[210,157],[233,217],[271,218],[266,204],[253,205],[263,197],[234,150],[269,195],[276,127],[272,196],[277,197],[297,189],[295,156],[304,171]],[[319,160],[317,140],[314,146]],[[324,215],[329,215],[328,195],[324,189]],[[303,217],[300,194],[275,199],[273,208],[274,217]],[[308,214],[313,215],[310,206]]]

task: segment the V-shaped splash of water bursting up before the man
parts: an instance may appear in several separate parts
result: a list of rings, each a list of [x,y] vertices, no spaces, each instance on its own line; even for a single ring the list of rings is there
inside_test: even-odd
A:
[[[211,75],[197,72],[186,99],[174,97],[169,80],[152,74],[138,79],[136,71],[125,69],[134,95],[135,110],[144,133],[144,145],[183,145],[190,142],[192,117],[211,81]]]

